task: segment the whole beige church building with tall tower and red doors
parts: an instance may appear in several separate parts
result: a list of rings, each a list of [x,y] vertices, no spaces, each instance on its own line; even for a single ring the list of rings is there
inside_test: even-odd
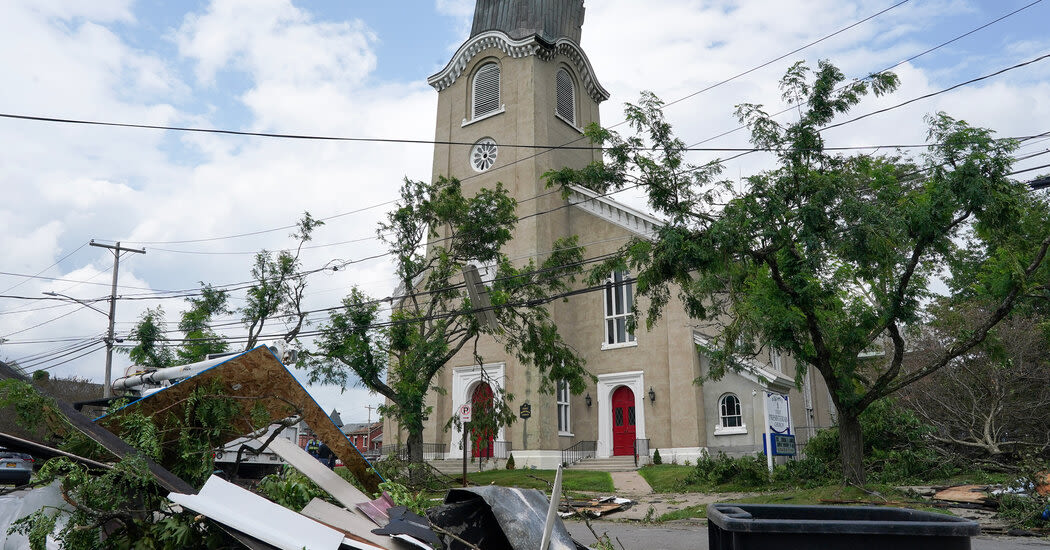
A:
[[[595,257],[630,237],[651,237],[660,225],[586,189],[565,198],[545,186],[544,172],[583,168],[601,157],[598,149],[580,147],[589,145],[583,128],[601,123],[598,105],[609,99],[580,45],[583,23],[583,0],[478,0],[469,38],[428,79],[438,92],[434,177],[461,179],[467,195],[503,183],[519,204],[521,221],[504,250],[517,265],[543,261],[560,237],[578,235],[585,257]],[[444,145],[449,143],[472,145]],[[581,395],[564,384],[554,395],[540,393],[538,371],[491,339],[479,346],[485,364],[476,364],[472,351],[453,359],[435,380],[445,392],[427,401],[433,411],[424,442],[441,449],[428,458],[462,456],[462,435],[445,431],[445,422],[460,405],[491,396],[494,386],[512,394],[513,410],[527,418],[502,428],[486,448],[468,439],[468,452],[512,452],[518,467],[554,468],[574,460],[563,456],[570,448],[583,456],[590,449],[596,459],[639,453],[643,462],[659,449],[665,463],[695,461],[704,451],[739,456],[762,451],[768,419],[777,419],[775,429],[796,435],[799,445],[832,423],[819,374],[808,373],[799,389],[793,360],[776,353],[718,381],[695,383],[708,367],[699,350],[711,335],[673,299],[651,331],[642,322],[632,333],[632,291],[630,273],[610,273],[603,292],[548,305],[562,337],[596,377]],[[768,414],[770,403],[776,414]],[[390,444],[398,427],[386,422]]]

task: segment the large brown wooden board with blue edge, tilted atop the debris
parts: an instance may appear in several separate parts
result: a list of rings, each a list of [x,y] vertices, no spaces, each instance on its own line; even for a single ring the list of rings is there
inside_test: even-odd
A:
[[[369,491],[378,492],[382,478],[371,470],[369,462],[336,427],[310,393],[264,345],[233,356],[196,376],[142,398],[112,415],[102,417],[97,422],[119,433],[120,417],[134,411],[153,417],[154,422],[161,425],[167,421],[177,421],[184,417],[186,400],[190,394],[198,387],[210,387],[212,384],[217,384],[225,395],[243,400],[246,410],[261,405],[271,422],[296,414],[302,415],[302,420],[314,430],[317,438],[328,444],[332,452],[342,461],[361,485]],[[245,415],[233,422],[227,441],[251,433],[260,427],[265,426],[253,425],[251,418]],[[176,433],[169,432],[168,437],[173,439]]]

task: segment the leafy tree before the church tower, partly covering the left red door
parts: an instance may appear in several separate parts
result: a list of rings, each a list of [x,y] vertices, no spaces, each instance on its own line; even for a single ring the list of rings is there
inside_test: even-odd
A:
[[[393,312],[385,318],[385,300],[353,289],[342,308],[319,326],[317,348],[306,364],[312,383],[345,388],[359,382],[385,397],[380,410],[405,429],[408,457],[421,462],[432,382],[449,359],[470,350],[468,345],[483,364],[477,357],[482,335],[496,338],[508,354],[546,375],[541,390],[552,392],[553,380],[567,380],[572,390],[583,390],[583,360],[562,340],[545,306],[568,291],[581,271],[583,249],[574,237],[560,239],[542,262],[513,267],[502,249],[518,221],[517,203],[502,185],[471,197],[463,195],[457,179],[405,179],[400,195],[378,230],[400,284],[399,295],[391,300]],[[479,322],[478,305],[464,288],[462,270],[471,263],[495,268],[490,296],[496,326]],[[508,399],[495,396],[492,408],[480,419],[486,424],[482,429],[513,419]]]

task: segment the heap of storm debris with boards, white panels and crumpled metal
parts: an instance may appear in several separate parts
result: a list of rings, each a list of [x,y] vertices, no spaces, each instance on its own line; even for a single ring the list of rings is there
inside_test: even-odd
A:
[[[250,401],[251,419],[233,419],[229,432],[223,435],[224,440],[242,438],[250,452],[269,449],[327,491],[338,505],[315,498],[296,511],[216,474],[208,477],[198,490],[166,469],[159,461],[144,460],[156,486],[168,491],[167,511],[181,513],[189,510],[196,514],[198,521],[213,523],[232,540],[252,550],[584,548],[571,538],[561,519],[554,513],[558,509],[561,471],[554,483],[552,503],[534,489],[496,486],[452,489],[443,504],[432,507],[425,511],[425,515],[420,515],[404,506],[395,505],[386,492],[382,492],[379,498],[370,496],[295,443],[282,438],[265,437],[266,430],[260,430],[260,426],[289,418],[302,419],[346,465],[350,473],[365,490],[379,493],[379,484],[384,480],[372,469],[269,350],[260,346],[205,366],[193,371],[173,385],[153,392],[94,421],[67,403],[59,402],[59,410],[81,433],[116,458],[123,459],[142,456],[122,439],[122,436],[134,436],[128,432],[128,426],[131,425],[126,421],[128,418],[149,418],[152,423],[161,426],[160,454],[163,456],[167,452],[165,449],[176,445],[173,438],[177,433],[176,430],[165,429],[165,423],[187,418],[187,409],[195,406],[193,396],[200,395],[201,388],[214,388],[231,399]],[[7,446],[21,445],[30,448],[29,451],[38,456],[62,456],[101,471],[113,468],[112,464],[4,435],[0,435],[0,443]],[[57,506],[61,504],[63,496],[57,485],[33,489],[27,494],[17,500],[0,501],[0,521],[9,525],[37,511],[27,509],[33,508],[27,505],[39,502]],[[616,501],[583,503],[579,508],[597,516],[624,506],[625,503]],[[17,504],[17,509],[10,503]]]

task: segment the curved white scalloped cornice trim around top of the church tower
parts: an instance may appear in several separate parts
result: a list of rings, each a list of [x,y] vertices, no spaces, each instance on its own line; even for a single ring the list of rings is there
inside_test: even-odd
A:
[[[594,69],[590,60],[580,46],[568,38],[560,38],[553,44],[541,41],[534,35],[521,40],[514,40],[502,30],[486,30],[463,43],[456,50],[453,59],[438,73],[426,79],[426,83],[434,89],[441,91],[456,82],[456,79],[463,75],[467,64],[475,56],[488,48],[499,48],[511,58],[524,58],[527,56],[539,56],[540,59],[549,60],[556,54],[562,54],[572,61],[576,71],[580,73],[580,82],[583,83],[587,94],[597,103],[609,99],[609,92],[598,84],[594,77]]]

